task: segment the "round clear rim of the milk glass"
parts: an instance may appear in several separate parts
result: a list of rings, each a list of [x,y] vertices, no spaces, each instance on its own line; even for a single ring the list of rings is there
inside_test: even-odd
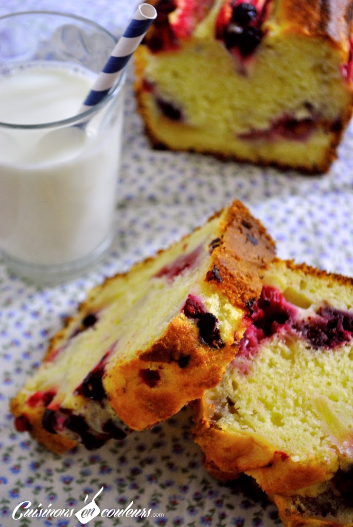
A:
[[[6,18],[15,18],[16,16],[23,16],[23,15],[50,15],[50,16],[61,16],[63,18],[67,19],[74,19],[79,22],[83,22],[87,25],[90,25],[92,27],[95,27],[97,30],[105,33],[107,36],[109,36],[112,40],[112,50],[115,46],[116,42],[119,40],[119,37],[116,37],[111,33],[110,31],[106,30],[105,27],[101,26],[97,22],[94,22],[90,18],[85,18],[84,16],[75,15],[73,13],[67,13],[65,11],[48,11],[45,9],[33,9],[29,11],[16,11],[15,13],[8,13],[7,15],[0,16],[0,23],[6,19]],[[111,51],[112,51],[111,50]],[[109,57],[106,57],[109,58]],[[44,60],[45,62],[45,60]],[[55,62],[55,61],[52,61]],[[59,62],[59,61],[58,61]],[[61,62],[62,63],[62,62]],[[14,62],[15,64],[15,62]],[[73,63],[75,64],[75,63]],[[97,74],[99,75],[99,73]],[[59,126],[67,126],[72,125],[80,121],[88,121],[91,116],[93,116],[98,110],[100,110],[103,106],[105,106],[118,91],[122,90],[122,87],[125,83],[126,79],[126,66],[122,70],[122,74],[120,75],[119,79],[109,92],[104,95],[103,99],[95,104],[94,106],[91,106],[89,109],[81,111],[80,113],[77,113],[73,115],[72,117],[66,118],[66,119],[60,119],[58,121],[50,121],[45,123],[37,123],[37,124],[21,124],[21,123],[7,123],[0,121],[0,128],[10,128],[10,129],[17,129],[17,130],[38,130],[42,128],[58,128]]]

